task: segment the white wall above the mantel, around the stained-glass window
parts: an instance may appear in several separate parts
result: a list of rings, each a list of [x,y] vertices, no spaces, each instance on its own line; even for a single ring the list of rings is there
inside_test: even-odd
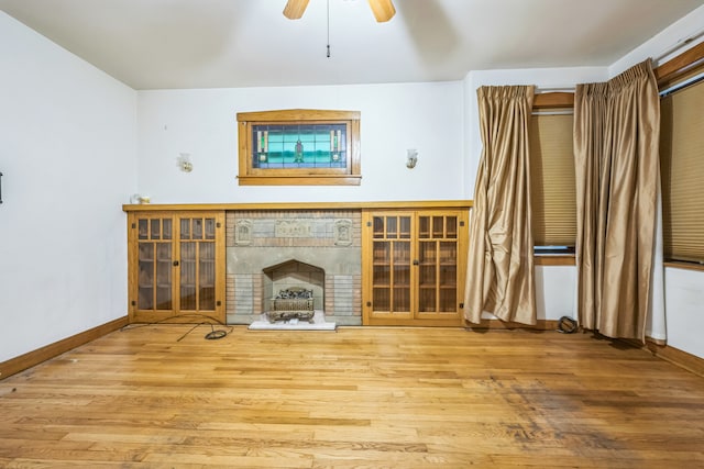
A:
[[[361,186],[239,186],[237,113],[277,109],[361,111]],[[152,203],[464,199],[464,129],[459,81],[140,91],[139,192]],[[193,172],[177,168],[180,153]]]

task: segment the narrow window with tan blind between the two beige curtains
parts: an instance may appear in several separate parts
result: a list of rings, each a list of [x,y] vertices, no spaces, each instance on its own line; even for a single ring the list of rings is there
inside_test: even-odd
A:
[[[530,120],[530,198],[536,254],[573,254],[576,190],[572,110]]]

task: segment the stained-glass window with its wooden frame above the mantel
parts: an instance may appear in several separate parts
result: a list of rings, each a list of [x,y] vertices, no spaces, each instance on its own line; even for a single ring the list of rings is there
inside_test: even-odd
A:
[[[359,185],[360,113],[238,114],[240,185]]]

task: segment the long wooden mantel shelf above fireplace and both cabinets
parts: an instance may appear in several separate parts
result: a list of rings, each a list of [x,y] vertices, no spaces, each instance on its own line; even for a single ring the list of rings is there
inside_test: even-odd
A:
[[[424,200],[389,202],[266,202],[266,203],[142,203],[124,204],[124,212],[198,211],[198,210],[402,210],[470,209],[471,200]]]

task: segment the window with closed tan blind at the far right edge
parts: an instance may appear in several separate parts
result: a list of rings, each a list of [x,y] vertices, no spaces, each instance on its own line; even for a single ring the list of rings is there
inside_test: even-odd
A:
[[[704,71],[704,70],[703,70]],[[704,264],[704,72],[661,92],[666,260]]]

